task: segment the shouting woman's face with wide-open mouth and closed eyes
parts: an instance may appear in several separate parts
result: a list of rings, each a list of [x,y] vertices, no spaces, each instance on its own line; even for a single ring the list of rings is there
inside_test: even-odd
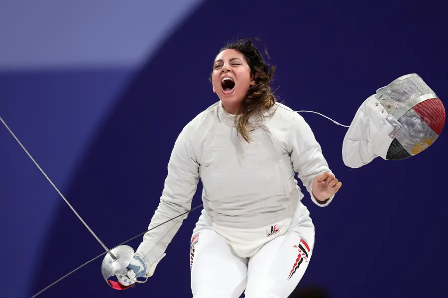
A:
[[[240,52],[228,49],[215,58],[212,73],[213,92],[218,94],[224,106],[239,106],[254,83],[249,65]]]

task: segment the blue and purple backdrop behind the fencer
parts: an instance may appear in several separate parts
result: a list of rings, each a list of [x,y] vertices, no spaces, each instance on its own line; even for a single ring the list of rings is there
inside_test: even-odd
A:
[[[235,37],[267,44],[276,94],[295,110],[349,125],[365,98],[409,73],[448,106],[448,21],[436,0],[169,0],[160,9],[145,1],[24,2],[0,4],[0,116],[109,247],[146,230],[174,141],[218,100],[207,78]],[[445,132],[408,160],[349,169],[341,158],[346,129],[303,116],[343,187],[327,208],[308,194],[303,200],[316,247],[300,286],[345,298],[444,297]],[[1,297],[30,297],[103,252],[4,128],[0,168]],[[146,284],[112,290],[100,258],[40,297],[191,297],[189,240],[199,214],[184,221]]]

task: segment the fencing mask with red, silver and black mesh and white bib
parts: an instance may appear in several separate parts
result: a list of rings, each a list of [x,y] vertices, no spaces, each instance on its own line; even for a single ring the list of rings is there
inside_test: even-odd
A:
[[[431,146],[444,125],[442,101],[418,74],[407,74],[362,103],[345,134],[342,159],[359,168],[378,156],[409,158]]]

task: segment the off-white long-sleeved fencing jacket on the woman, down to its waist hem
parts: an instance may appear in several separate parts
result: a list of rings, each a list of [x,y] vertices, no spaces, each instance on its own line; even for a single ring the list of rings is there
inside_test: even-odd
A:
[[[217,102],[190,121],[178,136],[168,175],[148,229],[191,209],[199,179],[204,212],[224,228],[260,228],[294,216],[290,196],[300,189],[295,172],[311,199],[314,177],[331,172],[310,126],[289,107],[276,103],[258,122],[247,143],[233,115]],[[301,196],[301,198],[303,195]],[[158,262],[187,216],[147,232],[137,249],[146,265]]]

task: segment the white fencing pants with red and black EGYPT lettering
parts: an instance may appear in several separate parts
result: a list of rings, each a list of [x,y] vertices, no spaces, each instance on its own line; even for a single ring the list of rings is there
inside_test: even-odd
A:
[[[308,267],[313,247],[308,211],[247,258],[238,256],[212,227],[201,228],[193,234],[190,249],[193,298],[239,298],[243,292],[245,298],[288,298]]]

